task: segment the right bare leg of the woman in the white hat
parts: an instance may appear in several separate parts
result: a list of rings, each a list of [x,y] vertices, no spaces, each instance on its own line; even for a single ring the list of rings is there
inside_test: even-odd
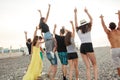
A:
[[[93,70],[94,70],[94,77],[95,77],[95,80],[97,80],[98,79],[98,70],[97,70],[97,63],[96,63],[95,54],[88,53],[87,56],[89,57],[90,61],[92,62]]]

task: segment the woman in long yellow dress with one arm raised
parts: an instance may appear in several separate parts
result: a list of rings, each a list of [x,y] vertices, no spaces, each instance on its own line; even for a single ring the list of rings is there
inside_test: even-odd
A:
[[[40,57],[40,44],[42,42],[41,38],[36,36],[37,30],[38,28],[36,27],[34,32],[34,39],[32,42],[31,61],[22,80],[38,80],[41,78],[43,63]]]

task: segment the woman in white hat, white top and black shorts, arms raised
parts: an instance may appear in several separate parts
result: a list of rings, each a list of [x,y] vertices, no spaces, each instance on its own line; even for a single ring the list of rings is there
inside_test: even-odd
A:
[[[90,62],[92,63],[92,67],[94,70],[94,77],[95,80],[98,78],[98,70],[97,70],[97,63],[96,63],[96,57],[93,50],[93,45],[91,41],[91,28],[92,28],[92,17],[88,13],[88,10],[84,9],[85,13],[88,15],[90,22],[86,23],[85,20],[81,21],[81,25],[78,26],[77,23],[77,9],[74,9],[75,14],[75,27],[76,32],[81,40],[81,47],[80,47],[80,53],[82,56],[82,59],[86,65],[86,75],[87,80],[91,80],[90,76]]]

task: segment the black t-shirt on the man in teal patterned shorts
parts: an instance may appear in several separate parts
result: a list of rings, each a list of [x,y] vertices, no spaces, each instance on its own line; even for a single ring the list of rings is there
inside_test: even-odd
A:
[[[66,45],[65,45],[65,36],[59,36],[55,34],[55,38],[57,41],[57,51],[67,52]]]

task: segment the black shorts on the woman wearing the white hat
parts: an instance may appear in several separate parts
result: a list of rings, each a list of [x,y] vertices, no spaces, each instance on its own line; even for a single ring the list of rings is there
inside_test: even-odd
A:
[[[94,52],[92,43],[82,43],[80,47],[80,52],[82,54],[87,54],[88,52]]]

